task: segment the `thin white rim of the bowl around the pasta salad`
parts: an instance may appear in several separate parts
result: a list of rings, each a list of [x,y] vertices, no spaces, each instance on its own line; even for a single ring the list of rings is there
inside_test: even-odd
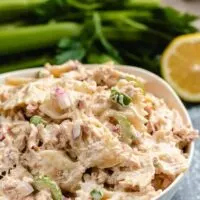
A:
[[[100,67],[103,66],[105,64],[83,64],[83,66],[85,66],[86,68],[90,68],[90,67]],[[130,65],[114,65],[116,69],[123,71],[124,70],[132,70],[135,72],[139,72],[142,74],[145,74],[149,77],[151,77],[152,79],[154,79],[155,81],[158,82],[158,84],[162,84],[164,87],[166,87],[166,89],[171,93],[171,95],[173,96],[173,98],[176,99],[177,103],[180,105],[180,108],[182,109],[186,120],[188,121],[189,125],[191,125],[191,127],[193,127],[192,125],[192,121],[190,119],[190,116],[184,106],[184,104],[182,103],[182,101],[180,100],[180,98],[178,97],[178,95],[175,93],[175,91],[172,89],[172,87],[161,77],[159,77],[158,75],[147,71],[145,69],[139,68],[139,67],[135,67],[135,66],[130,66]],[[39,69],[42,69],[43,67],[35,67],[35,68],[29,68],[29,69],[21,69],[21,70],[16,70],[16,71],[12,71],[12,72],[6,72],[6,73],[2,73],[0,74],[0,84],[2,82],[2,79],[5,79],[9,76],[17,76],[19,74],[27,74],[25,76],[28,75],[32,75],[34,73],[36,73]],[[160,195],[158,195],[157,197],[155,197],[153,200],[159,200],[161,199],[163,196],[167,195],[167,193],[169,193],[173,188],[176,188],[178,186],[178,184],[182,181],[182,179],[184,178],[184,176],[186,175],[187,171],[189,170],[189,168],[191,167],[192,164],[192,158],[194,156],[194,141],[190,143],[189,148],[188,148],[188,169],[179,174],[176,179],[172,182],[172,184],[167,187],[165,190],[163,190]]]

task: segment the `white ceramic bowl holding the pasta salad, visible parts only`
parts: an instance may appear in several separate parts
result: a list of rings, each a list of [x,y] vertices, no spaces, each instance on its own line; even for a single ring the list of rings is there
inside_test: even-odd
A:
[[[94,68],[98,67],[99,65],[86,65],[87,68]],[[134,74],[136,76],[142,77],[145,81],[145,89],[146,91],[151,92],[155,96],[159,98],[163,98],[170,108],[175,108],[180,115],[182,116],[185,124],[191,125],[190,117],[185,109],[183,103],[176,95],[174,90],[159,76],[148,72],[147,70],[137,68],[137,67],[130,67],[130,66],[116,66],[117,69],[127,72],[129,74]],[[0,83],[3,83],[6,77],[10,76],[20,76],[20,77],[30,77],[35,75],[39,68],[33,69],[26,69],[20,71],[14,71],[9,73],[0,74]],[[189,166],[191,165],[192,157],[194,154],[194,143],[188,148],[189,153]],[[155,200],[170,200],[174,196],[175,192],[177,191],[180,182],[183,180],[184,174],[180,174],[176,180],[166,189],[164,190]]]

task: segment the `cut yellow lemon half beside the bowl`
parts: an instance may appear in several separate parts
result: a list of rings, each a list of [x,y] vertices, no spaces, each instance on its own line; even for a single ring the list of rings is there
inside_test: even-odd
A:
[[[162,55],[161,71],[181,98],[200,102],[200,33],[175,38]]]

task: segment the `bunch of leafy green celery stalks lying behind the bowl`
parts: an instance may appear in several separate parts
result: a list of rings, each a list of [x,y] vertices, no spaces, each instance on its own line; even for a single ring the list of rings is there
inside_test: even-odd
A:
[[[2,0],[0,73],[77,59],[159,74],[165,47],[196,19],[160,0]]]

